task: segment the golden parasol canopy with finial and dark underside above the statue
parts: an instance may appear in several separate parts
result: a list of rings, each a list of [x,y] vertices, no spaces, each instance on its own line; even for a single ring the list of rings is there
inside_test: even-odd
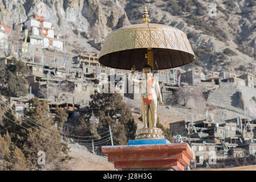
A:
[[[184,32],[163,24],[149,23],[147,7],[141,24],[111,32],[101,48],[99,62],[107,67],[137,70],[145,64],[154,70],[191,63],[194,52]]]

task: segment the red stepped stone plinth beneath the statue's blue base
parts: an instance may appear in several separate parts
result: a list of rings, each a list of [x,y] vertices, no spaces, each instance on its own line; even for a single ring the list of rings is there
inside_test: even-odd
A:
[[[190,165],[189,160],[193,159],[187,143],[103,146],[101,150],[116,169],[172,168],[184,171]]]

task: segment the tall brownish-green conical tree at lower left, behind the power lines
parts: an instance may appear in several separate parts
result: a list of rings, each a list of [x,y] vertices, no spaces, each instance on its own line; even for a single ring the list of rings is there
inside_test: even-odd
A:
[[[23,143],[22,151],[29,158],[30,165],[34,168],[42,168],[37,164],[38,152],[46,153],[46,164],[49,169],[66,168],[68,162],[68,147],[67,144],[61,143],[60,134],[52,133],[49,130],[53,124],[52,119],[48,114],[48,105],[46,101],[39,101],[38,98],[33,98],[29,102],[30,109],[25,111],[30,121],[36,121],[38,125],[44,126],[45,129],[35,125],[35,122],[29,122],[30,126],[23,123],[29,130],[34,133],[29,133],[29,137]],[[33,128],[31,127],[33,126]],[[42,131],[42,132],[40,132]]]

